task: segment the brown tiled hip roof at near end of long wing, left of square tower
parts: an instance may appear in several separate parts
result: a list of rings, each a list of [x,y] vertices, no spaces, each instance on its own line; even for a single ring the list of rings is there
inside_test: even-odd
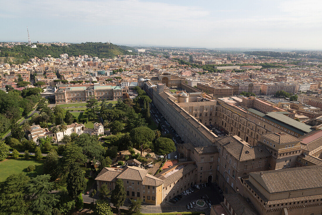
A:
[[[216,141],[239,161],[271,156],[265,147],[251,146],[247,142],[242,141],[238,136],[216,138]]]

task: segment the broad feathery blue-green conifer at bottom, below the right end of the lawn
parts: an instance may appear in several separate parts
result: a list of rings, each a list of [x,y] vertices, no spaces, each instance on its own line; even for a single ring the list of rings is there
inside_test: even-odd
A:
[[[38,175],[31,178],[26,184],[26,198],[29,200],[29,208],[33,214],[51,214],[58,202],[56,194],[50,193],[53,189],[53,182],[50,175]]]

